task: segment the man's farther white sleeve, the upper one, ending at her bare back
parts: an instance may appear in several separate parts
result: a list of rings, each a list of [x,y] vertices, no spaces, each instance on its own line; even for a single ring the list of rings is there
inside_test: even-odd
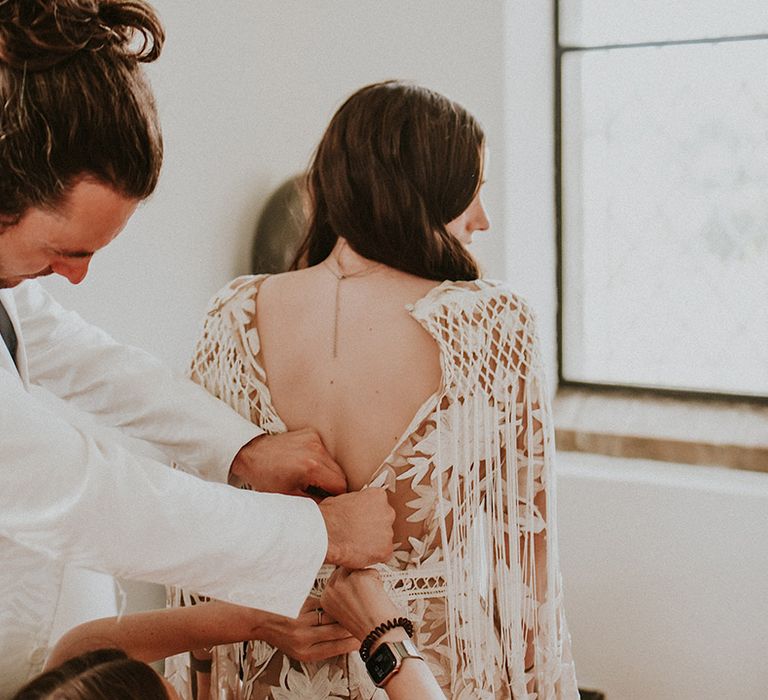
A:
[[[99,423],[211,481],[263,430],[148,353],[64,310],[37,283],[14,290],[29,379]]]

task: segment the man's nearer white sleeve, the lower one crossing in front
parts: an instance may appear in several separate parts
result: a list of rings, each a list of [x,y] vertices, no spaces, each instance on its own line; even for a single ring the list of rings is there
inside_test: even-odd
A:
[[[100,442],[8,369],[0,396],[0,536],[116,576],[298,614],[327,544],[311,500],[208,483]]]

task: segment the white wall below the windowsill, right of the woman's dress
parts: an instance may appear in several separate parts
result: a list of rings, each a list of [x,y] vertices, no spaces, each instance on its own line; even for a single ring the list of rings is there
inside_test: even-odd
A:
[[[763,700],[768,475],[560,454],[566,611],[607,700]]]

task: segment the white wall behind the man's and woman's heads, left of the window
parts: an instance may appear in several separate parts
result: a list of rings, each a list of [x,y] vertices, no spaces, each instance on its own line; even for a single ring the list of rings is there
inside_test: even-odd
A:
[[[539,308],[552,304],[548,4],[157,0],[168,29],[150,66],[166,140],[160,186],[81,288],[50,286],[119,339],[182,368],[207,300],[248,272],[265,198],[307,165],[349,93],[398,77],[482,121],[493,228],[476,252],[494,277],[508,254],[515,287]],[[551,340],[554,327],[543,326]]]

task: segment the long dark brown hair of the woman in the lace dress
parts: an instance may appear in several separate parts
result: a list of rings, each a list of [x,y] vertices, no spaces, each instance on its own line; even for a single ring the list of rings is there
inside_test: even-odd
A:
[[[433,280],[479,276],[445,225],[482,180],[485,137],[461,105],[400,81],[368,85],[331,119],[307,174],[307,235],[293,267],[355,252]]]

